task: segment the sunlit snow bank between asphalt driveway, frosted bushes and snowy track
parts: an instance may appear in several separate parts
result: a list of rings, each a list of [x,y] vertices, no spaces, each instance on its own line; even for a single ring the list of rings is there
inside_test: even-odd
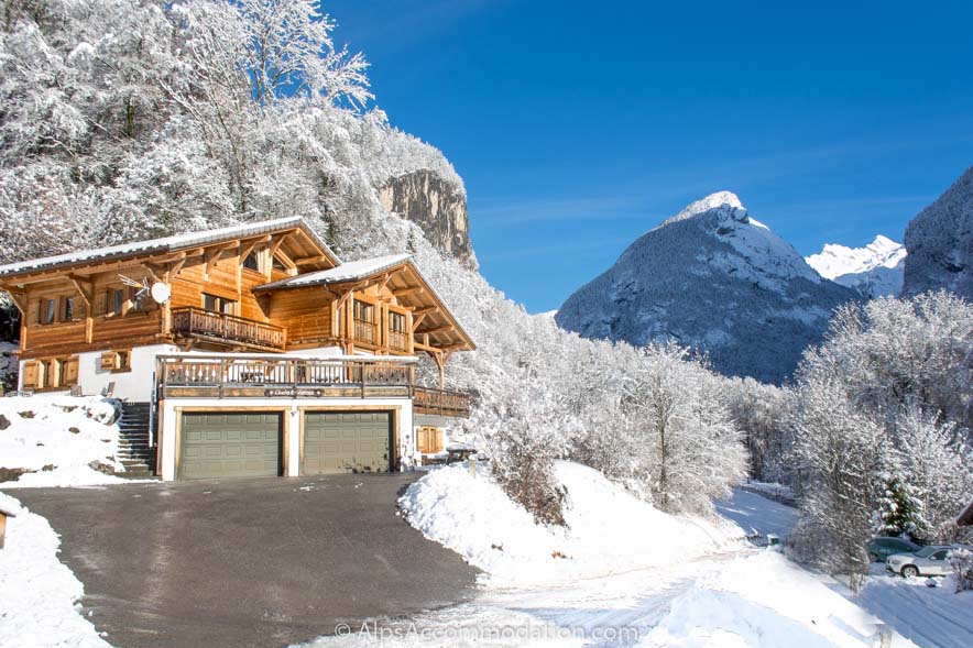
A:
[[[488,469],[431,471],[400,499],[409,523],[488,573],[491,584],[529,585],[669,564],[736,546],[730,523],[674,517],[634,497],[601,473],[570,462],[555,466],[567,488],[567,527],[537,525]]]

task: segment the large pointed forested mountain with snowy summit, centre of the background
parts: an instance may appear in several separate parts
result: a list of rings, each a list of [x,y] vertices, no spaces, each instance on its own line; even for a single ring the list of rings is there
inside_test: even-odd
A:
[[[565,301],[557,322],[633,344],[673,338],[722,373],[779,383],[821,340],[831,311],[855,297],[720,191],[632,243]]]

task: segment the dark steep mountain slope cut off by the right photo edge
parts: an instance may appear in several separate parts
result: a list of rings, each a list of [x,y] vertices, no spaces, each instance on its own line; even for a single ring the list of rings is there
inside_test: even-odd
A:
[[[947,289],[973,299],[973,167],[906,228],[903,295]]]

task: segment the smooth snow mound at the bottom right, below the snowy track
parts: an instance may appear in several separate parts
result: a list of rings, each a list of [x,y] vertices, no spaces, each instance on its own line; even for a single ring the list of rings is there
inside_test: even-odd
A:
[[[878,619],[774,551],[739,558],[674,601],[645,647],[871,648]],[[915,646],[895,635],[892,647]]]

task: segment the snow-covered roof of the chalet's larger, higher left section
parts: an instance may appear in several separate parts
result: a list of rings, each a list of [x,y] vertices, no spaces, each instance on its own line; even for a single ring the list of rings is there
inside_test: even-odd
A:
[[[299,216],[278,218],[274,220],[264,220],[260,222],[250,222],[243,224],[220,228],[216,230],[206,230],[200,232],[188,232],[185,234],[176,234],[173,237],[163,237],[160,239],[150,239],[145,241],[134,241],[132,243],[123,243],[121,245],[111,245],[108,248],[98,248],[95,250],[79,250],[77,252],[68,252],[66,254],[57,254],[54,256],[44,256],[42,259],[32,259],[30,261],[21,261],[0,265],[0,277],[13,276],[20,274],[29,274],[33,272],[54,270],[59,267],[70,267],[86,263],[100,263],[116,259],[125,259],[130,256],[139,256],[147,253],[161,252],[178,252],[200,245],[218,243],[220,241],[229,241],[233,239],[245,239],[258,237],[261,234],[270,234],[281,232],[288,229],[300,229],[307,234],[314,243],[328,256],[334,264],[340,264],[341,260],[328,248],[328,245],[318,237],[317,232],[307,224]]]

